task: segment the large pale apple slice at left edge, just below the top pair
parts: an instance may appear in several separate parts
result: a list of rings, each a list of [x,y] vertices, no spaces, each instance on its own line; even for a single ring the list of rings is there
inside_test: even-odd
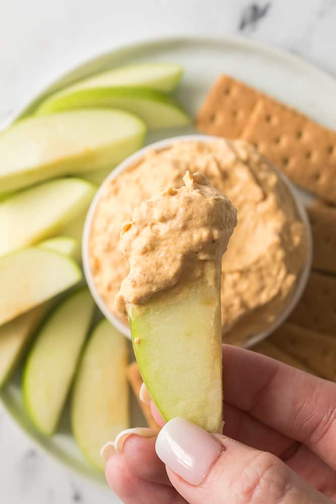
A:
[[[16,122],[0,136],[0,194],[47,178],[118,164],[139,149],[141,119],[120,110],[76,110]]]

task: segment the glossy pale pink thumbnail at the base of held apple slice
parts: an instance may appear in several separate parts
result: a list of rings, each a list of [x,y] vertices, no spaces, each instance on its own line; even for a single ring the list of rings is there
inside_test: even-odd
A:
[[[199,485],[223,451],[206,430],[183,418],[173,418],[160,430],[155,450],[172,471],[191,485]]]

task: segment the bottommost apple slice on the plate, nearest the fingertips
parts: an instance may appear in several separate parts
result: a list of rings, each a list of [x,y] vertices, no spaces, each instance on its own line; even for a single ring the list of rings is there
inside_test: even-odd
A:
[[[104,470],[100,449],[129,426],[127,343],[106,320],[84,351],[72,399],[72,426],[87,460]]]

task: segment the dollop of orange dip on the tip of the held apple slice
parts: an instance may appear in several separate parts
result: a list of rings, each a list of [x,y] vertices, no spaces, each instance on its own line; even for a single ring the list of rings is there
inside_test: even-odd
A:
[[[177,283],[203,277],[207,261],[217,268],[219,284],[237,211],[202,173],[187,171],[183,181],[143,202],[121,227],[119,248],[129,272],[115,297],[119,313],[127,314],[127,304],[144,304]]]

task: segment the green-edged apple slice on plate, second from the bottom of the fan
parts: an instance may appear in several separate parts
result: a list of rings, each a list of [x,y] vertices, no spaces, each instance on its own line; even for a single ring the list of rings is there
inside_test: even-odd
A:
[[[41,327],[26,361],[27,412],[45,435],[56,429],[89,330],[94,301],[87,288],[65,298]]]

